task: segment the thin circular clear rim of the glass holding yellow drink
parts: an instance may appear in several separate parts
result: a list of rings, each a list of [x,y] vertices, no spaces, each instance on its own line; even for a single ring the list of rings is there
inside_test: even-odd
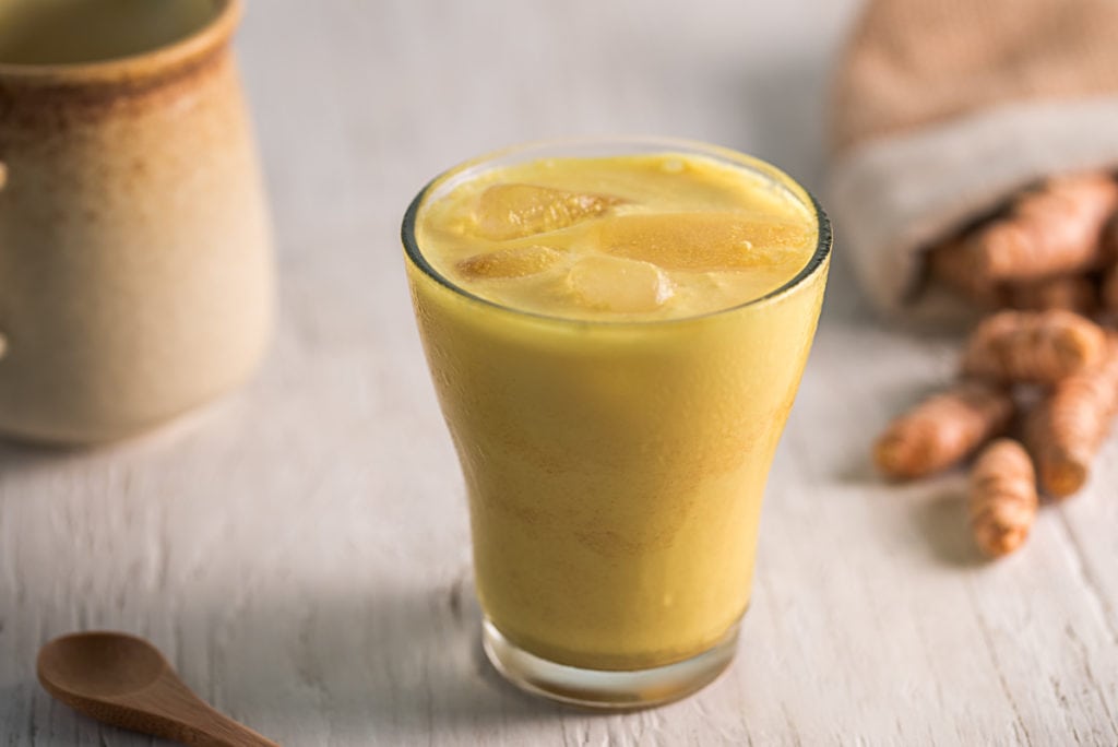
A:
[[[518,309],[515,306],[510,306],[503,303],[498,303],[496,301],[491,301],[490,299],[482,297],[475,293],[456,284],[451,278],[446,277],[439,273],[435,267],[427,261],[424,256],[423,250],[419,248],[419,243],[416,239],[416,219],[419,215],[419,210],[424,205],[425,199],[434,191],[435,188],[439,187],[444,182],[448,181],[456,174],[464,173],[465,171],[482,167],[486,163],[494,163],[503,158],[514,157],[523,153],[531,153],[533,151],[561,149],[561,148],[577,148],[579,145],[610,145],[616,144],[618,150],[626,145],[635,146],[656,146],[663,148],[663,152],[671,152],[672,149],[680,150],[682,152],[695,153],[700,155],[713,155],[716,158],[728,161],[732,164],[743,166],[757,171],[761,176],[769,177],[774,181],[778,182],[785,188],[794,188],[792,191],[799,190],[803,195],[796,195],[798,199],[804,204],[804,207],[809,209],[815,217],[815,223],[817,226],[817,237],[815,250],[812,256],[807,259],[804,266],[797,272],[792,278],[779,287],[769,291],[768,293],[757,296],[756,299],[750,299],[742,303],[733,304],[732,306],[727,306],[724,309],[717,309],[714,311],[708,311],[700,314],[691,314],[688,316],[673,316],[667,319],[625,319],[625,320],[609,320],[609,319],[577,319],[571,316],[560,316],[557,314],[544,314],[538,311],[528,311],[524,309]],[[655,151],[647,151],[655,152]],[[544,158],[544,157],[541,157]],[[556,155],[555,158],[566,158],[563,155]],[[806,199],[803,199],[806,198]],[[445,289],[454,292],[455,294],[476,303],[484,304],[492,309],[499,309],[506,313],[524,316],[528,319],[534,319],[547,322],[558,322],[562,324],[578,324],[578,325],[589,325],[589,327],[655,327],[673,323],[691,322],[701,319],[710,319],[712,316],[719,316],[722,314],[730,314],[736,311],[741,311],[743,309],[760,305],[762,303],[770,302],[779,296],[786,295],[808,280],[818,274],[818,271],[826,264],[826,261],[831,256],[832,245],[834,243],[834,236],[831,229],[831,219],[827,214],[823,210],[823,206],[815,196],[797,180],[793,179],[785,171],[777,168],[776,166],[759,159],[748,153],[742,153],[740,151],[733,150],[731,148],[724,148],[721,145],[714,145],[711,143],[705,143],[698,140],[689,140],[683,138],[663,138],[663,136],[645,136],[645,135],[634,135],[634,136],[584,136],[584,138],[561,138],[553,140],[532,140],[515,145],[510,145],[495,151],[490,151],[476,158],[463,161],[456,166],[437,174],[434,179],[428,181],[419,193],[413,198],[411,202],[408,205],[407,210],[404,212],[404,223],[400,226],[400,239],[404,244],[404,252],[408,261],[411,262],[419,271],[421,271],[427,277],[435,281],[437,284],[444,286]]]

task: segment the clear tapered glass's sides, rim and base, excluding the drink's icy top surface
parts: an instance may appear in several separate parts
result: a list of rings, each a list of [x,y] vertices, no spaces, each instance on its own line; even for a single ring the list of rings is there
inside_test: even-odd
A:
[[[713,313],[576,321],[481,299],[424,254],[427,207],[492,169],[657,152],[717,159],[798,201],[817,231],[800,272]],[[818,204],[776,168],[712,145],[533,143],[436,178],[402,240],[465,476],[490,661],[529,691],[600,708],[710,682],[737,647],[761,497],[823,301],[831,230]]]

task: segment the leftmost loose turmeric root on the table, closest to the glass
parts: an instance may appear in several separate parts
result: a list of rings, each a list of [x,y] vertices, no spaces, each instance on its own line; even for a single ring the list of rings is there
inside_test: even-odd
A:
[[[874,445],[874,462],[902,480],[945,470],[1003,433],[1012,418],[1007,390],[961,381],[893,420]]]

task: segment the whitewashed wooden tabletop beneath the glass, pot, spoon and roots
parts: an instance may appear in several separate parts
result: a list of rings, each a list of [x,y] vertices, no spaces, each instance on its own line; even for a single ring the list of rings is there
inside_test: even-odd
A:
[[[151,744],[35,680],[40,644],[94,627],[151,637],[285,745],[1118,743],[1118,443],[1022,552],[980,561],[959,475],[889,486],[866,458],[956,340],[882,325],[841,261],[729,673],[594,716],[483,661],[462,481],[404,283],[406,202],[465,157],[577,133],[713,141],[817,187],[854,6],[255,2],[239,48],[283,272],[271,359],[140,441],[0,446],[0,745]]]

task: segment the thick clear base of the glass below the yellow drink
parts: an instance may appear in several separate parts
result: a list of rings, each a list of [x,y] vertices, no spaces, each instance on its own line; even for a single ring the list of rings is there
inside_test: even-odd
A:
[[[634,671],[581,669],[541,659],[509,641],[487,618],[482,644],[496,671],[522,690],[584,708],[625,710],[679,700],[714,681],[733,660],[738,624],[701,654]]]

